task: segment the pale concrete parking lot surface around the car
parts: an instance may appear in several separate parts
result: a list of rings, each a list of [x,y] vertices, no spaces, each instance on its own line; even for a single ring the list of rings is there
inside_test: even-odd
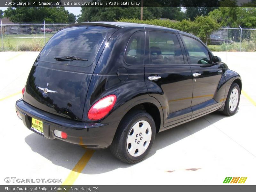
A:
[[[243,81],[238,112],[214,112],[156,135],[148,157],[124,164],[109,149],[47,140],[28,130],[15,113],[39,52],[0,52],[1,185],[221,185],[226,177],[256,180],[255,52],[214,52]],[[10,183],[17,179],[62,179],[60,183]],[[32,181],[32,180],[30,180]]]

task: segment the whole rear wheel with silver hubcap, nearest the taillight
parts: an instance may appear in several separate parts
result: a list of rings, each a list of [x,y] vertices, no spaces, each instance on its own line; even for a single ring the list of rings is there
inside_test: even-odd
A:
[[[144,111],[132,111],[121,121],[110,150],[119,160],[135,164],[148,155],[155,135],[152,116]]]

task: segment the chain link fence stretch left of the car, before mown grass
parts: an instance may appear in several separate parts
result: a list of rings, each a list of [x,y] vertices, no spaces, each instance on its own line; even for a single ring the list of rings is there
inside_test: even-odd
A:
[[[41,51],[66,24],[4,24],[0,26],[0,51]]]

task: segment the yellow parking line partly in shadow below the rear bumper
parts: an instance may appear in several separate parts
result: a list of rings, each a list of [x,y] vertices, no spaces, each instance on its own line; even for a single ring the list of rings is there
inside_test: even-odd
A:
[[[92,155],[94,153],[94,150],[87,150],[84,155],[81,157],[81,159],[77,162],[75,167],[72,169],[72,171],[69,173],[67,179],[62,183],[62,185],[73,185],[76,181],[77,177],[80,175],[80,173],[83,171],[85,165],[88,163],[88,161],[91,159]]]

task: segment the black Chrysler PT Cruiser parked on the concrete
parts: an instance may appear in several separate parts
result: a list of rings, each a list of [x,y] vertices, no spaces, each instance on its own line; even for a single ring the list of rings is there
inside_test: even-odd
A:
[[[234,115],[241,78],[196,36],[92,22],[56,33],[34,62],[16,112],[47,139],[110,147],[134,164],[157,132],[219,110]]]

